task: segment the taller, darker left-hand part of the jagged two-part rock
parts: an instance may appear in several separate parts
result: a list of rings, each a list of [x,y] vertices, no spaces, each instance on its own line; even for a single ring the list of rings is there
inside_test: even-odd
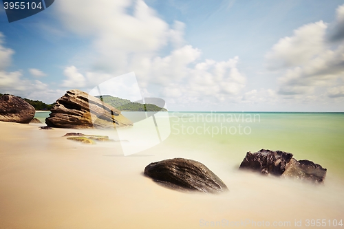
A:
[[[263,174],[281,175],[286,170],[286,164],[292,159],[292,153],[261,149],[257,153],[246,153],[240,168],[260,171]]]

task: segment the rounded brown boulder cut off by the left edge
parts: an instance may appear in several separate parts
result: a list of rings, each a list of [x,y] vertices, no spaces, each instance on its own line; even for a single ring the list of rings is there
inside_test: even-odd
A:
[[[0,121],[29,123],[35,112],[34,107],[22,98],[12,95],[0,97]]]

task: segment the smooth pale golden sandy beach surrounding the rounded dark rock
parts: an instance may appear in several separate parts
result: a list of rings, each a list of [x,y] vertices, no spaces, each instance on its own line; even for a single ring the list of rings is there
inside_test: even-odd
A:
[[[61,137],[75,130],[10,122],[0,128],[0,228],[257,228],[263,221],[293,228],[300,220],[303,228],[307,219],[343,217],[343,182],[331,171],[325,185],[314,186],[240,172],[237,162],[169,140],[125,157],[114,144]],[[180,193],[142,174],[147,164],[173,157],[202,162],[229,192]]]

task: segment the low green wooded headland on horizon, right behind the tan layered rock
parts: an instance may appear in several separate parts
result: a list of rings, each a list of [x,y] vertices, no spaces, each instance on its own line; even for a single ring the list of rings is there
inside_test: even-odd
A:
[[[109,95],[96,96],[96,98],[99,98],[112,107],[116,107],[120,111],[167,111],[162,107],[150,103],[141,104],[139,102],[131,102],[130,100]]]

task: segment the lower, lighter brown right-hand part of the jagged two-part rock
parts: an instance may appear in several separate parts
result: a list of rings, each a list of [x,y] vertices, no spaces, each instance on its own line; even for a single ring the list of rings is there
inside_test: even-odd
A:
[[[296,179],[304,179],[316,183],[321,183],[325,179],[326,168],[320,164],[315,164],[309,160],[295,160],[292,158],[286,166],[283,177],[293,177]]]

